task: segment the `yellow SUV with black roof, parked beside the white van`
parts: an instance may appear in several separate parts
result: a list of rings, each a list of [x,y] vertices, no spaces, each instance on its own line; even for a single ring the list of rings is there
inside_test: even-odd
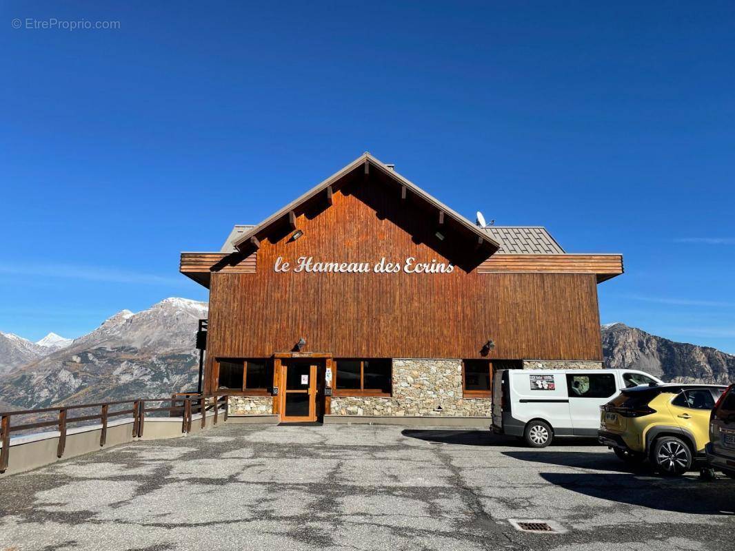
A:
[[[598,439],[631,463],[648,459],[663,475],[706,460],[709,414],[726,386],[651,384],[624,389],[600,406]]]

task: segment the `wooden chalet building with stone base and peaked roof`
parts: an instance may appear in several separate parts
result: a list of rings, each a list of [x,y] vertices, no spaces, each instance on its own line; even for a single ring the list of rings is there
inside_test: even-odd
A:
[[[209,289],[204,391],[232,414],[472,424],[498,368],[601,367],[597,284],[623,259],[477,226],[364,154],[181,271]]]

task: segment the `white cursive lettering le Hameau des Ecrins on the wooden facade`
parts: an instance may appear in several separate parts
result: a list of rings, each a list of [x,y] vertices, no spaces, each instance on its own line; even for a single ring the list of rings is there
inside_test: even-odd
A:
[[[380,262],[323,262],[314,260],[313,256],[299,256],[294,266],[284,261],[282,256],[273,264],[273,271],[277,273],[452,273],[454,264],[445,262],[416,262],[415,257],[409,256],[404,262],[387,262],[385,257]]]

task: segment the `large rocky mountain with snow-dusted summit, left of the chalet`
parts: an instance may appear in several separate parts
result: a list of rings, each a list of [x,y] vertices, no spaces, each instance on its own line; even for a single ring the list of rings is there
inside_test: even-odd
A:
[[[185,298],[167,298],[137,314],[119,311],[70,345],[16,364],[0,377],[0,401],[37,408],[196,390],[195,339],[204,317],[207,303]]]

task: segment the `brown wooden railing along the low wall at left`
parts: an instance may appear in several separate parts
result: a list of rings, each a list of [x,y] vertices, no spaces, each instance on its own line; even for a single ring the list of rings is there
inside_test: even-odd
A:
[[[168,404],[168,405],[166,405]],[[110,411],[110,406],[130,405],[118,411]],[[190,433],[192,428],[193,414],[201,414],[201,428],[207,427],[207,411],[212,412],[212,422],[217,425],[220,408],[224,408],[223,419],[227,420],[227,409],[229,397],[227,395],[200,395],[191,392],[182,392],[171,395],[170,398],[148,398],[138,400],[118,400],[115,402],[87,403],[74,406],[60,406],[57,408],[37,408],[19,411],[0,412],[0,474],[7,469],[8,457],[10,455],[10,433],[28,431],[33,428],[54,427],[59,431],[59,443],[57,445],[57,457],[64,455],[68,425],[70,423],[98,421],[101,422],[99,445],[104,446],[107,440],[107,424],[110,417],[131,415],[132,437],[141,438],[145,426],[146,416],[157,412],[168,412],[170,417],[181,417],[182,433]],[[70,416],[70,411],[80,409],[99,408],[99,413],[92,415]],[[37,415],[55,413],[56,416],[50,421],[26,422],[20,425],[12,424],[12,417],[22,415]]]

